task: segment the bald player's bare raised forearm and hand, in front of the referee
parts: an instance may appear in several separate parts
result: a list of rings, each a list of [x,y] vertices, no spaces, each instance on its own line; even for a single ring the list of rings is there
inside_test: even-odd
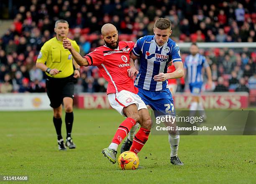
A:
[[[77,63],[77,65],[79,66],[89,66],[89,62],[87,61],[86,58],[83,58],[75,49],[74,47],[72,47],[71,42],[69,40],[67,40],[66,38],[64,38],[63,43],[62,43],[63,47],[67,50],[69,50],[69,52],[72,54],[75,62]]]

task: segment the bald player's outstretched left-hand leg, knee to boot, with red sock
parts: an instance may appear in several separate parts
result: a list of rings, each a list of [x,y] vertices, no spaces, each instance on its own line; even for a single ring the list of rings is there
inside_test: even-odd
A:
[[[138,122],[139,113],[136,104],[128,105],[123,108],[123,114],[127,117],[118,127],[111,144],[108,148],[102,150],[102,154],[108,158],[110,162],[115,164],[116,162],[116,154],[118,145],[123,141],[123,139],[127,136],[128,132],[131,128]]]

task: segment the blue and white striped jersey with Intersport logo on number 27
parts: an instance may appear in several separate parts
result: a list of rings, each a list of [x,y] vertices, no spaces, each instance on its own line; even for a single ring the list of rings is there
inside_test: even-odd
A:
[[[156,44],[155,36],[141,37],[133,47],[133,54],[139,57],[140,69],[134,85],[144,90],[161,91],[168,86],[167,80],[156,82],[153,77],[159,73],[167,73],[167,64],[182,61],[180,57],[179,46],[172,40],[161,47]]]

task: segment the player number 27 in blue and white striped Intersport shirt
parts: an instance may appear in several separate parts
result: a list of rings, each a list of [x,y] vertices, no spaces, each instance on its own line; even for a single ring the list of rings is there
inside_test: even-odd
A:
[[[155,22],[154,35],[141,37],[134,45],[130,56],[131,69],[128,69],[128,75],[133,77],[134,73],[138,74],[134,85],[138,87],[138,95],[141,99],[154,110],[155,117],[175,116],[173,98],[167,85],[167,79],[180,78],[184,75],[179,47],[169,38],[171,33],[171,21],[159,18]],[[140,61],[139,71],[134,67],[134,61],[138,58]],[[176,70],[167,73],[167,65],[171,61]],[[128,137],[126,142],[131,141]],[[169,143],[171,145],[171,163],[183,165],[177,157],[179,145],[177,131],[169,132]],[[125,146],[124,144],[123,147]]]

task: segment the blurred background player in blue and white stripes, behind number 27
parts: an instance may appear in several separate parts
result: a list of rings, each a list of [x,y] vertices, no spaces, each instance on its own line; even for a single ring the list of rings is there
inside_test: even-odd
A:
[[[205,68],[208,85],[212,87],[212,73],[207,60],[203,55],[198,53],[198,47],[196,43],[192,43],[190,46],[191,55],[187,56],[184,62],[184,78],[187,77],[189,83],[189,89],[192,94],[192,102],[190,104],[190,116],[194,116],[196,110],[200,111],[200,115],[204,116],[205,112],[202,102],[200,102],[200,93],[203,85],[202,69]]]

